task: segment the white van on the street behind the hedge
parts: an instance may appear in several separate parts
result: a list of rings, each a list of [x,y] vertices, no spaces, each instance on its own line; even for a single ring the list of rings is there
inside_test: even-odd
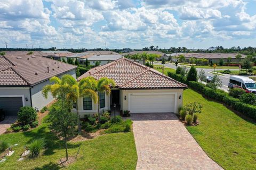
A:
[[[246,92],[252,92],[253,94],[256,94],[256,84],[252,79],[248,77],[232,75],[229,78],[228,87],[241,88],[244,89]]]

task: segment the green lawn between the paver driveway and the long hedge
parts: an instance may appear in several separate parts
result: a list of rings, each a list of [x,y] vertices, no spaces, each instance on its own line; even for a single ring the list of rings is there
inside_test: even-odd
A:
[[[184,91],[184,104],[198,101],[203,111],[200,124],[188,126],[206,154],[225,169],[256,169],[256,125],[230,111],[226,106],[205,99],[197,92]]]

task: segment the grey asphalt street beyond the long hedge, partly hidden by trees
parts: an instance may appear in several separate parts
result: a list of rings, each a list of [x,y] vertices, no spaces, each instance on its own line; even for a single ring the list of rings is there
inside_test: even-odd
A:
[[[162,65],[161,63],[155,63],[155,64],[159,64],[159,65]],[[167,63],[165,64],[166,67],[170,67],[172,69],[175,69],[176,70],[176,66],[175,64],[170,64],[170,63]],[[183,66],[183,65],[178,65],[178,66]],[[189,67],[186,67],[187,70],[189,70]],[[197,68],[197,73],[199,73],[202,69],[199,69]],[[226,70],[226,69],[215,69],[215,71],[217,70]],[[238,70],[238,69],[229,69],[229,70]],[[213,77],[214,74],[212,74],[211,72],[214,71],[214,69],[204,69],[205,71],[205,74],[206,76],[211,76]],[[225,91],[228,91],[228,82],[229,82],[229,77],[230,75],[226,74],[226,75],[220,75],[220,79],[222,81],[222,87],[221,89],[225,90]]]

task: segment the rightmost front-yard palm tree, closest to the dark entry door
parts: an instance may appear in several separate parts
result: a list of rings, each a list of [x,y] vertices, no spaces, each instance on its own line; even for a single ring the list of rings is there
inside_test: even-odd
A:
[[[100,120],[100,93],[105,92],[106,95],[109,95],[111,93],[110,86],[115,87],[116,83],[113,79],[109,78],[100,78],[97,81],[96,91],[98,92],[98,117]]]

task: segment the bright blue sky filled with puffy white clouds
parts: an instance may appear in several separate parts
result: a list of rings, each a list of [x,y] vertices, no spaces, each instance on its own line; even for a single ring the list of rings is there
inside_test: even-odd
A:
[[[0,47],[256,46],[255,0],[0,2]]]

